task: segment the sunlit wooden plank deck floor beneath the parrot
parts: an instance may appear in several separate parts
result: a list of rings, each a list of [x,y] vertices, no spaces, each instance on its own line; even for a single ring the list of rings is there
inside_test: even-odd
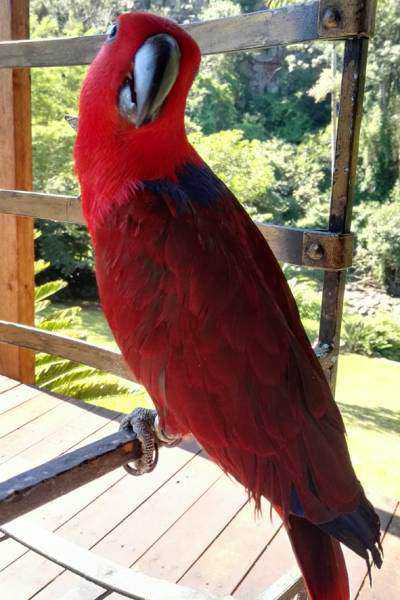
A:
[[[118,417],[0,376],[0,480],[115,431]],[[398,503],[372,500],[383,529],[390,523],[385,566],[373,572],[371,590],[364,562],[346,550],[352,598],[397,600]],[[294,565],[279,519],[271,522],[266,507],[256,521],[241,487],[195,443],[163,451],[150,475],[134,478],[118,469],[22,519],[121,565],[242,600],[255,599]],[[12,600],[122,598],[11,539],[0,544],[0,591]]]

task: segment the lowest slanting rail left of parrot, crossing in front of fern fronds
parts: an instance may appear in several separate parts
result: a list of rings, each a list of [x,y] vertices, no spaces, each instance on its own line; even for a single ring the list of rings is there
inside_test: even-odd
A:
[[[74,362],[100,369],[100,371],[107,371],[130,381],[135,381],[120,352],[106,350],[81,340],[74,340],[36,327],[1,320],[0,340],[14,346],[29,348],[35,352],[62,356]]]

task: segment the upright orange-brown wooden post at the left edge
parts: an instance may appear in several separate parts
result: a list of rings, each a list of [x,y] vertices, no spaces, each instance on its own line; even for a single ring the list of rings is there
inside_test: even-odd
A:
[[[0,40],[29,37],[29,0],[1,0]],[[29,69],[0,69],[0,186],[32,189]],[[0,214],[0,319],[33,325],[33,219]],[[34,381],[34,354],[0,344],[0,373]]]

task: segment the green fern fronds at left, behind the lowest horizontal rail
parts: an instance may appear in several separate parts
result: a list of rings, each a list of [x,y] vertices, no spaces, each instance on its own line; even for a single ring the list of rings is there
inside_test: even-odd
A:
[[[36,261],[35,274],[42,273],[49,266],[50,263],[43,260]],[[36,325],[46,331],[84,339],[79,306],[49,311],[50,298],[66,285],[65,281],[57,279],[36,287]],[[35,374],[36,384],[40,387],[102,406],[112,405],[119,410],[121,403],[132,405],[133,392],[135,395],[142,394],[138,386],[115,375],[48,354],[37,354]]]

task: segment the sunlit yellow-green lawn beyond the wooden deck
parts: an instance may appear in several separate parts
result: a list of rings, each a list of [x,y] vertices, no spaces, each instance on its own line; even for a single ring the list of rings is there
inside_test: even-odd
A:
[[[83,304],[81,317],[81,330],[88,342],[116,348],[97,305]],[[305,325],[314,338],[315,323],[309,320]],[[400,363],[356,354],[340,357],[336,399],[357,475],[367,489],[395,498],[400,497],[399,388]],[[113,397],[96,404],[130,412],[135,405],[148,402],[145,393],[138,390],[133,397]]]

